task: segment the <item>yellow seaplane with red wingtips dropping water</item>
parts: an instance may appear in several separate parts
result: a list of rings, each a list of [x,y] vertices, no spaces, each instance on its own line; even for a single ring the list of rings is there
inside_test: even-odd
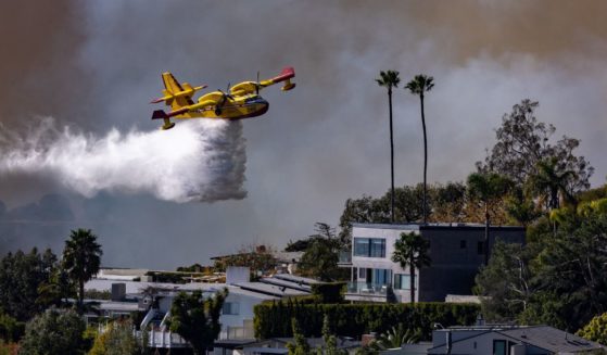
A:
[[[162,129],[175,127],[170,118],[223,118],[242,119],[261,116],[268,111],[269,103],[260,96],[260,90],[277,83],[284,83],[281,90],[289,91],[295,87],[291,78],[295,76],[292,67],[286,67],[276,77],[260,81],[243,81],[228,86],[227,92],[222,90],[203,94],[198,102],[192,100],[194,92],[206,88],[206,85],[192,87],[188,83],[179,84],[170,73],[163,73],[163,97],[151,103],[163,102],[170,106],[169,112],[154,111],[152,119],[164,119]]]

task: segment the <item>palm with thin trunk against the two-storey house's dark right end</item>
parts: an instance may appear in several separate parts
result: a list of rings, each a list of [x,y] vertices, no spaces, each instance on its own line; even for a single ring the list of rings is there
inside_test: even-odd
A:
[[[472,201],[480,202],[484,207],[484,265],[489,264],[489,226],[491,225],[491,207],[495,205],[511,188],[513,182],[496,173],[472,173],[468,176],[467,189]]]

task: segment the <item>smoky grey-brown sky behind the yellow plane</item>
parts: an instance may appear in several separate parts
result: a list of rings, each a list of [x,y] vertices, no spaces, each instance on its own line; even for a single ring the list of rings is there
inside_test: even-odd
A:
[[[582,140],[578,154],[596,168],[593,185],[604,183],[605,13],[600,0],[2,1],[0,29],[10,35],[0,36],[0,200],[9,210],[1,249],[59,253],[69,229],[86,227],[100,237],[104,265],[174,268],[243,244],[283,246],[315,221],[337,225],[347,198],[379,195],[390,183],[387,94],[374,80],[382,69],[400,71],[404,83],[434,76],[426,101],[430,181],[465,179],[503,114],[530,98],[555,138]],[[228,143],[218,135],[217,147],[190,151],[174,134],[159,138],[150,116],[160,106],[148,102],[160,94],[162,72],[225,89],[287,65],[298,87],[264,90],[268,113],[242,122]],[[395,90],[394,119],[395,183],[416,183],[418,99]],[[154,139],[130,150],[125,137],[141,136]],[[42,156],[27,172],[11,170],[7,152],[15,151]],[[168,157],[154,157],[161,151]],[[186,153],[199,151],[184,167]],[[49,159],[60,152],[69,153],[61,169]],[[172,153],[184,170],[166,165]],[[110,162],[122,167],[108,169]],[[68,182],[74,176],[80,185]],[[204,185],[201,195],[225,192],[201,200],[229,200],[156,193],[192,180]],[[94,188],[81,186],[90,181]],[[48,193],[60,196],[40,201]]]

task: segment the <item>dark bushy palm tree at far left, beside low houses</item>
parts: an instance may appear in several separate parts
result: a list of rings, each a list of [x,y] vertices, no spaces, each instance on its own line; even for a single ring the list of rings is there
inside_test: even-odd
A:
[[[90,229],[72,230],[63,250],[63,267],[67,276],[78,283],[78,306],[83,309],[85,282],[90,280],[101,265],[101,245]]]

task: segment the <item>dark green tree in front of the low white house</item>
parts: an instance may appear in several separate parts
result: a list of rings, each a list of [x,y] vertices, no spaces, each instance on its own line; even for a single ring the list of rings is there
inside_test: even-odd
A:
[[[180,292],[170,306],[169,328],[188,341],[194,354],[205,354],[213,348],[222,331],[219,316],[228,289],[204,299],[201,291],[191,294]]]

